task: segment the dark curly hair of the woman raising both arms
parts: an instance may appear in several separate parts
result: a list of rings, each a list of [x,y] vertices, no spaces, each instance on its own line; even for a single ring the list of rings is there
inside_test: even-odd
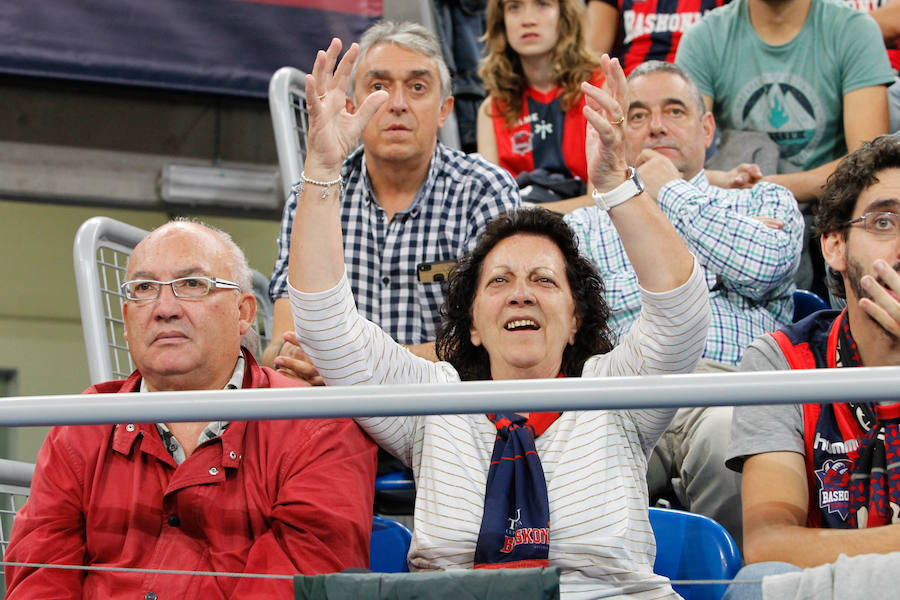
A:
[[[566,277],[581,325],[575,343],[563,350],[561,372],[567,377],[580,377],[589,357],[613,348],[603,281],[594,265],[579,253],[572,230],[562,217],[546,209],[522,208],[489,222],[475,249],[460,259],[450,275],[436,349],[438,357],[452,364],[463,381],[491,378],[487,351],[472,344],[472,305],[485,257],[497,244],[517,234],[548,238],[566,261]]]

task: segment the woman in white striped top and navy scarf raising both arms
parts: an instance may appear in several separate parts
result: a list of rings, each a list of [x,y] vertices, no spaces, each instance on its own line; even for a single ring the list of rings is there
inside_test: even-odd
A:
[[[309,142],[291,243],[296,336],[328,385],[691,372],[709,321],[693,256],[624,160],[625,77],[601,59],[589,84],[588,172],[642,286],[644,310],[615,347],[603,285],[562,220],[523,209],[491,222],[449,281],[437,340],[418,358],[362,319],[344,275],[340,166],[379,119],[377,89],[345,93],[358,48],[333,40],[307,75]],[[336,65],[336,67],[335,67]],[[351,112],[352,111],[352,112]],[[359,418],[416,479],[411,569],[558,566],[564,598],[676,598],[653,574],[647,456],[666,409]],[[501,460],[502,458],[509,460]]]

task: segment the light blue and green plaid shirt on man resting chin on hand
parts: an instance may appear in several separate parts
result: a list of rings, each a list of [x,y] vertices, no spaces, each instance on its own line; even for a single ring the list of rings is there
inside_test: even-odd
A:
[[[737,365],[757,336],[791,322],[803,235],[797,202],[785,188],[766,182],[744,190],[714,187],[703,171],[690,182],[663,186],[657,202],[706,270],[712,321],[703,357]],[[781,219],[784,228],[771,229],[753,217]],[[621,336],[640,314],[641,302],[619,235],[595,206],[565,220],[603,277],[610,327]]]

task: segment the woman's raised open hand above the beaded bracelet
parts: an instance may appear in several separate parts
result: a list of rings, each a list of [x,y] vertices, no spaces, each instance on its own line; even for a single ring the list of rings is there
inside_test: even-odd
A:
[[[341,41],[334,38],[327,50],[316,54],[313,72],[306,76],[309,138],[304,173],[312,179],[330,181],[340,174],[359,135],[388,98],[387,92],[373,92],[355,111],[347,110],[347,88],[359,46],[351,44],[338,62],[340,53]]]

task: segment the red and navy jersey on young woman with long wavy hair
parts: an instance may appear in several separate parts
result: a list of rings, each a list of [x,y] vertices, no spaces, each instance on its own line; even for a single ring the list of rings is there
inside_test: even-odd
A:
[[[594,75],[600,85],[603,77]],[[494,137],[500,166],[512,173],[545,169],[565,177],[587,181],[587,159],[584,155],[587,121],[582,114],[584,96],[575,106],[563,112],[562,88],[539,92],[528,87],[522,97],[522,116],[514,127],[507,127],[502,106],[493,106]]]

